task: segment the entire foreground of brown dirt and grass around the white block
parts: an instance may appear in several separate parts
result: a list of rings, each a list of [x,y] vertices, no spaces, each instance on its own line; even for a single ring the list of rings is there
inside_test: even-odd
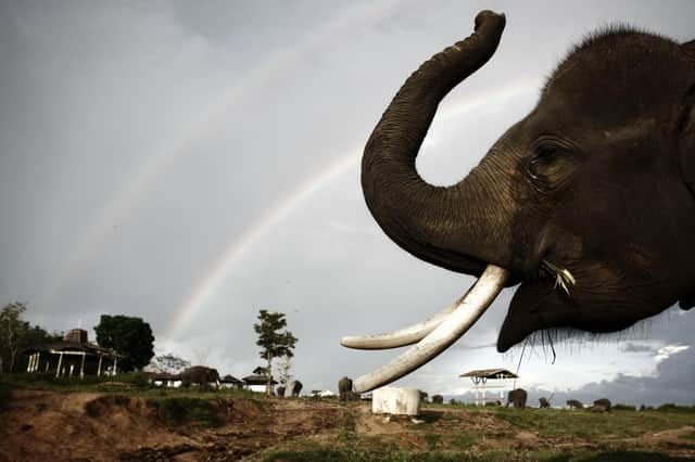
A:
[[[414,422],[375,416],[366,402],[155,392],[15,389],[0,460],[695,460],[691,408],[429,405]]]

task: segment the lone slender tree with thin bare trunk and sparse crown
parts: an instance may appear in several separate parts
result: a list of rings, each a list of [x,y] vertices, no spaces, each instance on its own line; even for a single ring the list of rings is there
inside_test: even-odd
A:
[[[294,356],[292,350],[298,338],[287,330],[287,320],[282,312],[262,309],[258,311],[258,321],[261,322],[253,324],[253,329],[258,334],[256,345],[263,348],[258,354],[268,362],[266,393],[269,394],[273,381],[273,359],[286,357],[289,360],[292,358]]]

